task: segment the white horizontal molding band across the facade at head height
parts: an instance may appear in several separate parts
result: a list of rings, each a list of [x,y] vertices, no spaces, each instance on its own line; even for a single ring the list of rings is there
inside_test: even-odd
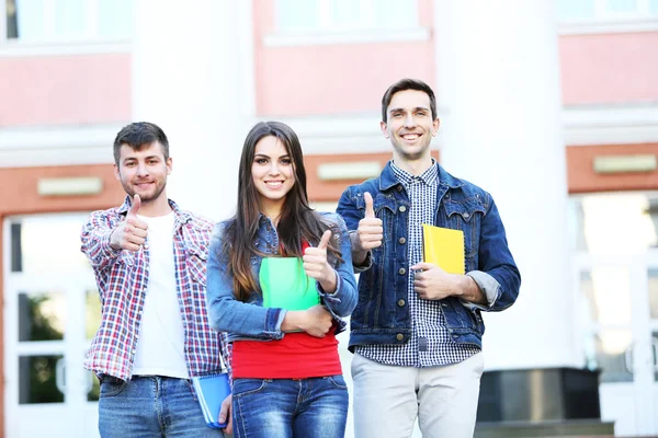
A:
[[[444,108],[439,117],[450,124]],[[269,116],[246,117],[245,132]],[[379,129],[379,114],[280,118],[297,132],[304,153],[356,154],[390,152]],[[0,128],[0,168],[111,164],[112,142],[123,124]],[[442,130],[433,139],[440,149]],[[567,106],[563,111],[567,146],[658,142],[658,103],[615,106]]]

